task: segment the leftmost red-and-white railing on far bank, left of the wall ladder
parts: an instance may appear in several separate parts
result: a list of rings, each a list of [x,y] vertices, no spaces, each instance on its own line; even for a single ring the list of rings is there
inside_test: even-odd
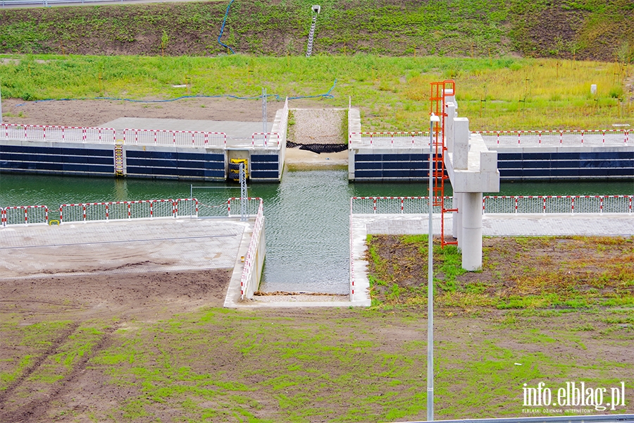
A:
[[[51,142],[116,142],[113,128],[84,128],[80,126],[0,124],[0,139]]]

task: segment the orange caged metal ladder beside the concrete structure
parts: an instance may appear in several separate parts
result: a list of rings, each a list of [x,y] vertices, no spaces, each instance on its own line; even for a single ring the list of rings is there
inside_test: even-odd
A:
[[[445,171],[445,152],[447,147],[445,146],[445,120],[447,118],[446,102],[447,97],[453,97],[456,95],[456,82],[454,80],[444,80],[442,82],[431,83],[431,95],[430,95],[430,114],[435,114],[440,117],[440,125],[436,125],[433,134],[433,192],[429,195],[433,195],[434,207],[440,207],[440,234],[441,234],[441,246],[453,244],[457,245],[457,241],[447,241],[445,239],[445,213],[457,212],[458,209],[447,209],[447,197],[445,197],[445,180],[449,180],[447,172]]]

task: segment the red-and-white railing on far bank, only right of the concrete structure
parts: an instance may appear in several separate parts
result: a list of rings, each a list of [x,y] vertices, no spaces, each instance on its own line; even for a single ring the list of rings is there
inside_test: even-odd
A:
[[[628,145],[628,129],[586,130],[485,130],[482,135],[487,145],[526,147],[578,147],[583,145]]]

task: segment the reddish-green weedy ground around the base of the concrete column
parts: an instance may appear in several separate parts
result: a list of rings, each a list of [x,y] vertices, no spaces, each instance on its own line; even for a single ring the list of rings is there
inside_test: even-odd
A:
[[[425,306],[427,235],[371,235],[367,243],[373,306]],[[454,245],[435,244],[435,303],[449,313],[633,307],[633,243],[631,237],[485,238],[477,272],[462,269]]]

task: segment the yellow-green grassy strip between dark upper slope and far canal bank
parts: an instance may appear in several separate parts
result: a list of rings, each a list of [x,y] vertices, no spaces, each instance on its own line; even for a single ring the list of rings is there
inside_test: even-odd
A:
[[[472,130],[611,128],[633,125],[628,92],[633,68],[555,59],[390,58],[357,55],[255,58],[225,56],[2,56],[4,97],[25,100],[186,94],[306,96],[327,92],[323,106],[352,96],[364,130],[421,130],[428,123],[429,83],[454,78],[461,116]],[[100,79],[101,76],[101,79]],[[189,78],[189,79],[188,79]],[[174,88],[190,82],[187,88]],[[598,94],[590,94],[597,84]]]

